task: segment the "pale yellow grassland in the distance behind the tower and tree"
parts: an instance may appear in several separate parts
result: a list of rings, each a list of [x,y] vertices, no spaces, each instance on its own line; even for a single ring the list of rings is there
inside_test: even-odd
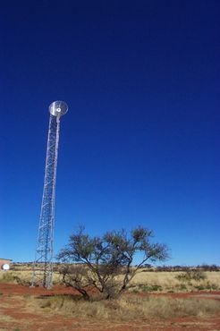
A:
[[[57,269],[58,269],[57,265]],[[183,267],[185,270],[186,267]],[[189,271],[147,271],[141,268],[131,280],[129,293],[190,293],[220,291],[220,271],[202,271],[188,267]],[[22,271],[21,271],[22,269]],[[190,273],[190,275],[189,275]],[[32,271],[26,265],[12,266],[12,270],[0,271],[0,283],[30,284]],[[119,276],[120,277],[120,276]],[[54,273],[55,284],[62,284],[62,276]]]

